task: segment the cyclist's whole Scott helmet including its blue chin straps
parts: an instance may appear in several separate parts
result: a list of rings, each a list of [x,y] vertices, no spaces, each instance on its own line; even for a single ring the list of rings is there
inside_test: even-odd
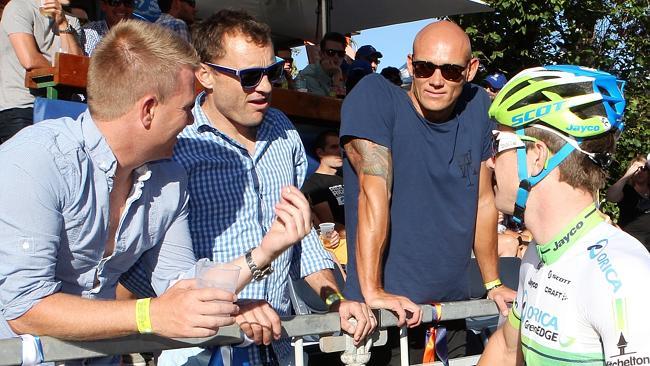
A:
[[[624,81],[603,71],[554,65],[520,72],[497,94],[488,112],[497,123],[513,128],[521,137],[525,136],[524,128],[532,127],[566,141],[550,154],[544,169],[535,176],[528,175],[525,144],[517,147],[519,190],[513,211],[517,223],[523,223],[532,187],[573,151],[585,154],[602,168],[609,165],[609,154],[584,151],[580,144],[585,138],[623,130],[624,86]]]

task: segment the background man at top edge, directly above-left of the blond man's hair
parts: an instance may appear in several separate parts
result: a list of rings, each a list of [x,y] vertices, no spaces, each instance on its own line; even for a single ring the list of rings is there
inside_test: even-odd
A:
[[[109,29],[121,20],[131,19],[135,0],[101,0],[99,7],[104,14],[104,19],[83,26],[81,44],[86,56],[92,55],[93,50],[108,33]]]

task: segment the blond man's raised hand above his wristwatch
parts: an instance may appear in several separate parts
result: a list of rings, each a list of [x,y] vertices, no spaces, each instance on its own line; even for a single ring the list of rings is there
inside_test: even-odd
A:
[[[276,219],[260,247],[273,258],[300,241],[311,231],[311,209],[296,187],[284,187],[275,205]]]

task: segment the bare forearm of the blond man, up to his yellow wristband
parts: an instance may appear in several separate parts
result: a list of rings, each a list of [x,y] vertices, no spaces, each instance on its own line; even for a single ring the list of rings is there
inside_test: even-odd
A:
[[[137,332],[135,301],[102,301],[56,293],[10,320],[17,334],[66,340],[115,338]]]

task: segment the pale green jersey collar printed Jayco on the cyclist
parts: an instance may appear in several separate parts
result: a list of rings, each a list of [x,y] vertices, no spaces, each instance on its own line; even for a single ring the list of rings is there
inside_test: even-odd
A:
[[[603,221],[603,217],[594,204],[587,206],[553,239],[547,243],[537,245],[536,249],[539,258],[547,265],[556,262],[573,244]]]

